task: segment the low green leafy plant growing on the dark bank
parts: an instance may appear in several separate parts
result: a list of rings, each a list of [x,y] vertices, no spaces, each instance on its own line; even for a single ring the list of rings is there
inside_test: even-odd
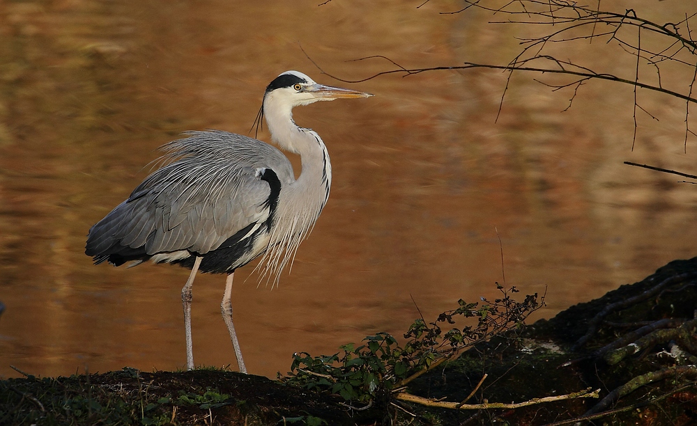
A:
[[[377,333],[358,347],[342,345],[332,356],[293,354],[291,371],[284,380],[307,389],[328,390],[347,401],[369,404],[386,399],[429,369],[457,358],[467,347],[520,329],[530,313],[544,306],[544,296],[538,301],[537,293],[518,302],[510,296],[518,292],[516,287],[505,290],[498,283],[496,287],[503,295],[498,299],[482,299],[481,305],[460,299],[458,308],[441,313],[434,322],[416,319],[404,334],[404,346],[388,333]],[[443,332],[443,326],[456,325],[458,320],[470,324]]]

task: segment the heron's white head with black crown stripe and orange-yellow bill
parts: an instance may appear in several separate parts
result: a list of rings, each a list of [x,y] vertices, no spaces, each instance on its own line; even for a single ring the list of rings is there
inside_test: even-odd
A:
[[[321,100],[369,97],[370,93],[339,87],[317,84],[307,75],[298,71],[286,71],[266,86],[263,99],[265,106],[274,104],[282,108],[308,105]]]

